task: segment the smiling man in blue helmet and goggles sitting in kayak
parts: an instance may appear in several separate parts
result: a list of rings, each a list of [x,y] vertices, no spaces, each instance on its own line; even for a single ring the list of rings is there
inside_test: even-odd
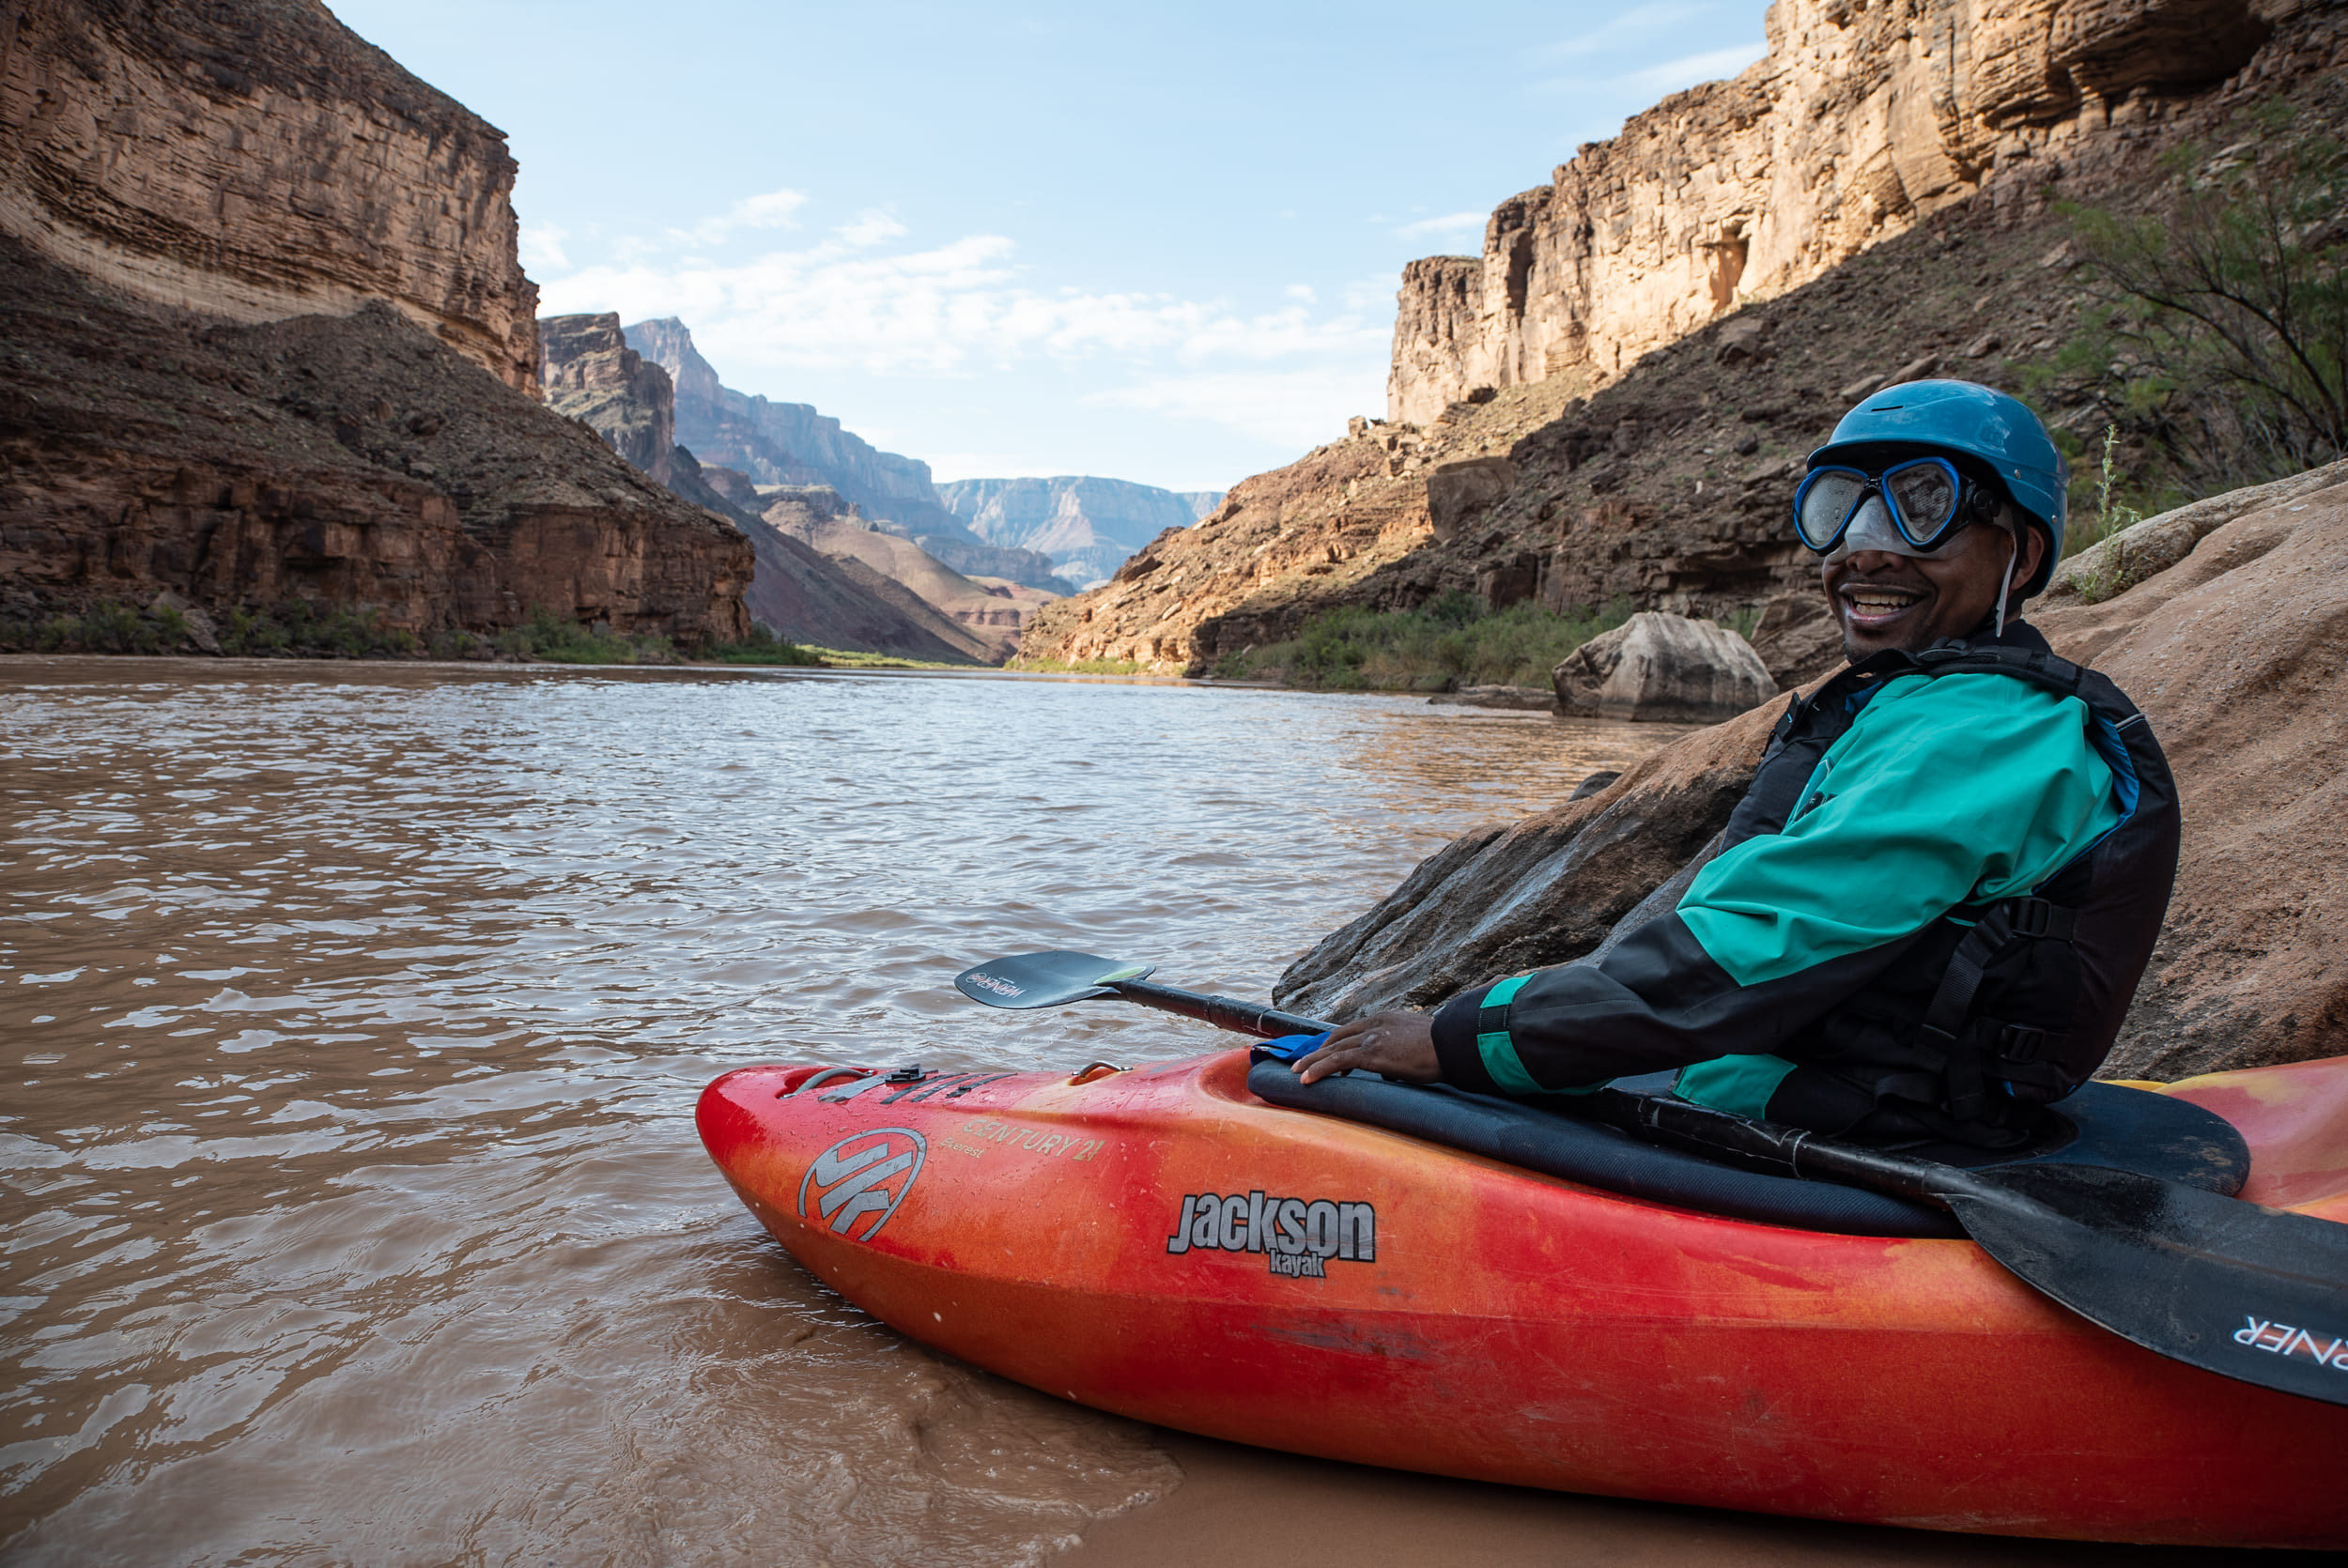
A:
[[[1850,669],[1787,707],[1679,906],[1599,962],[1303,1056],[1484,1094],[1674,1091],[1876,1145],[2010,1148],[2118,1035],[2177,873],[2151,725],[2015,620],[2069,472],[1989,387],[1876,392],[1810,453],[1794,533]]]

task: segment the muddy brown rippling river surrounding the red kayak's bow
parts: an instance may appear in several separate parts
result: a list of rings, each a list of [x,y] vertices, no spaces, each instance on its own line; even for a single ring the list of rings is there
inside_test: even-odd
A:
[[[977,1009],[1073,946],[1263,995],[1672,730],[805,671],[0,660],[0,1561],[2186,1561],[1259,1453],[803,1275],[735,1066],[1228,1042]]]

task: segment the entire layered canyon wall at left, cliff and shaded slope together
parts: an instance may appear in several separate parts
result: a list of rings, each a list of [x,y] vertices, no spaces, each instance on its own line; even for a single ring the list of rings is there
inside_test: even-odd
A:
[[[479,117],[296,0],[31,0],[0,85],[5,636],[171,599],[749,629],[742,533],[538,401]]]

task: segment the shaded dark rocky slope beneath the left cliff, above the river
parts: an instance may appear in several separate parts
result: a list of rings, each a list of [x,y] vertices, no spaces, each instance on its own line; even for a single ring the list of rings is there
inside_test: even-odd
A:
[[[221,324],[0,239],[0,613],[749,629],[749,542],[390,305]]]

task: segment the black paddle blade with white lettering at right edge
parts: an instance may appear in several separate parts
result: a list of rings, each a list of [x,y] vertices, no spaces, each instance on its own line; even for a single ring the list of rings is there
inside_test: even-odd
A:
[[[2348,1404],[2348,1225],[2097,1164],[1963,1171],[1939,1197],[1982,1251],[2120,1338]]]

